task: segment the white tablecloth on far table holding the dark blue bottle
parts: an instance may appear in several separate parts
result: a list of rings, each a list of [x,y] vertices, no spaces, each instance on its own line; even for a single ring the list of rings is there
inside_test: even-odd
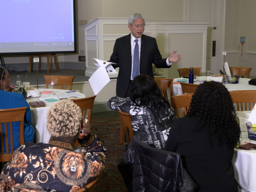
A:
[[[196,77],[197,79],[194,79],[194,81],[196,80],[206,80],[207,77]],[[177,82],[178,79],[185,79],[185,78],[175,78],[173,79],[173,82]],[[187,79],[187,82],[189,81],[189,79]],[[235,91],[235,90],[256,90],[256,86],[255,85],[250,85],[248,83],[248,81],[250,81],[250,79],[247,78],[239,78],[239,82],[234,84],[234,83],[228,83],[225,82],[225,87],[227,87],[227,90],[229,91]],[[195,84],[199,84],[198,82],[194,82]],[[181,85],[180,84],[173,84],[173,95],[181,95],[182,94],[182,89],[181,89]],[[256,190],[255,190],[256,191]]]

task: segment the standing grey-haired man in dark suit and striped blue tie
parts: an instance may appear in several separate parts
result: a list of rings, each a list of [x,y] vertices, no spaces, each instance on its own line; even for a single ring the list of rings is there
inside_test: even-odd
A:
[[[129,97],[133,78],[139,74],[147,74],[154,78],[152,63],[156,68],[170,68],[172,62],[181,61],[181,55],[170,54],[169,58],[162,59],[155,38],[143,35],[145,17],[134,13],[129,17],[129,35],[118,38],[109,62],[119,67],[117,77],[117,97]],[[136,40],[137,39],[137,40]]]

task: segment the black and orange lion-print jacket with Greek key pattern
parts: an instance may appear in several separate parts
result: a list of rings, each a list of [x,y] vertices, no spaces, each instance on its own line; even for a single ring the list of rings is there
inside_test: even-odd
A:
[[[106,149],[97,136],[81,153],[44,143],[25,143],[3,169],[0,192],[73,192],[98,177],[106,158]]]

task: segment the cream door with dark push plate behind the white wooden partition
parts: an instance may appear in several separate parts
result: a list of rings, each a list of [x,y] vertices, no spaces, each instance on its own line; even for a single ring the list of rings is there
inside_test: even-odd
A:
[[[219,74],[219,70],[223,70],[226,0],[188,0],[186,6],[189,6],[187,22],[209,22],[206,70]]]

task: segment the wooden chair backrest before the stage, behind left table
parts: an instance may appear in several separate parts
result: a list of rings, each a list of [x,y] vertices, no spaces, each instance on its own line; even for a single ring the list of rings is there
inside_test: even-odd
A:
[[[69,85],[69,90],[72,91],[73,79],[75,76],[63,76],[63,75],[44,75],[46,89],[48,85],[53,85],[53,89],[66,89],[66,86]],[[58,87],[59,86],[59,87]]]

